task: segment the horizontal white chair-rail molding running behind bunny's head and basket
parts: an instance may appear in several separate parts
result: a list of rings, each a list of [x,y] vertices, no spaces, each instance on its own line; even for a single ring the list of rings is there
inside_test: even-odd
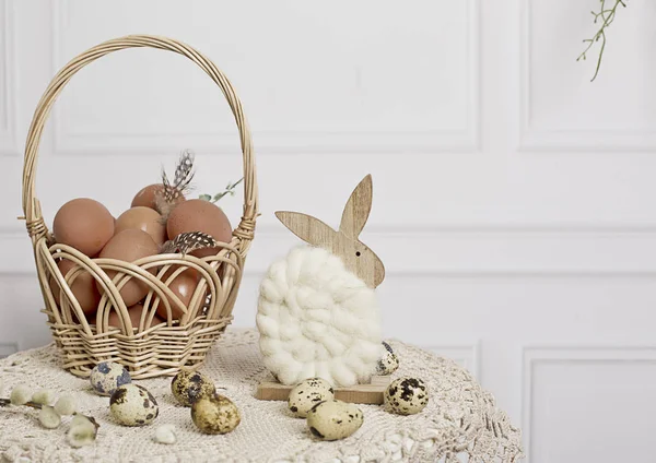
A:
[[[362,236],[385,262],[388,276],[432,278],[654,278],[653,226],[426,226],[367,225]],[[298,240],[281,225],[258,226],[247,274],[263,273]],[[8,257],[0,273],[32,274],[24,228],[0,228]],[[408,249],[422,249],[421,258]]]

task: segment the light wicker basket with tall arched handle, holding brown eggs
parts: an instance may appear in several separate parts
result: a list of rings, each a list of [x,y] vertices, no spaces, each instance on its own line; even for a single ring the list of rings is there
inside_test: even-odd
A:
[[[194,61],[219,85],[237,122],[244,154],[244,213],[233,232],[232,241],[222,244],[216,256],[198,259],[192,256],[160,254],[132,263],[114,259],[90,259],[69,246],[55,244],[42,217],[34,180],[40,138],[52,104],[75,72],[86,64],[113,51],[137,47],[174,51]],[[225,75],[208,58],[177,40],[131,35],[89,49],[59,71],[38,103],[25,146],[23,211],[34,246],[36,270],[46,305],[44,312],[48,316],[48,325],[56,344],[63,353],[63,368],[73,375],[86,377],[98,361],[114,360],[125,365],[133,379],[142,379],[174,375],[181,367],[198,366],[232,320],[244,260],[255,230],[255,162],[250,132],[239,98]],[[63,277],[56,259],[71,260],[78,266]],[[185,306],[167,284],[189,268],[198,271],[200,281],[191,301]],[[117,271],[116,276],[110,280],[105,270]],[[74,280],[83,272],[90,272],[104,289],[97,308],[96,324],[89,322],[70,289]],[[149,287],[139,327],[132,327],[119,294],[122,285],[131,278],[138,278]],[[51,282],[61,288],[57,300]],[[160,304],[166,308],[166,322],[144,330],[153,320]],[[172,307],[175,306],[184,312],[180,320],[172,319]],[[120,328],[108,325],[110,310],[118,312]]]

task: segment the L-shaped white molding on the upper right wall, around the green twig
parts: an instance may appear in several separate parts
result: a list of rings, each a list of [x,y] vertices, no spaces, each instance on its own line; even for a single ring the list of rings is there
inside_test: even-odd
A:
[[[656,128],[653,130],[550,130],[531,123],[531,8],[535,0],[522,2],[519,19],[519,143],[526,152],[653,152],[656,150]]]

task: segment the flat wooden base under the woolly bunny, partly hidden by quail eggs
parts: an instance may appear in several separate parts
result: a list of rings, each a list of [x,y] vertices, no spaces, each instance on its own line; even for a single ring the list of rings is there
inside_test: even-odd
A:
[[[353,404],[374,404],[383,403],[383,393],[389,385],[388,376],[373,376],[370,384],[356,384],[350,388],[337,388],[335,399],[350,402]],[[260,382],[255,393],[255,397],[260,401],[286,401],[292,385],[284,385],[279,382]]]

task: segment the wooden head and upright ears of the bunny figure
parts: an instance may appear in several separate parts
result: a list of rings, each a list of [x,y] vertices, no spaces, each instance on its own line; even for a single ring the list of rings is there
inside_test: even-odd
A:
[[[374,251],[358,239],[372,210],[372,176],[367,175],[351,193],[339,230],[300,212],[278,211],[276,216],[302,240],[340,257],[347,269],[375,288],[385,278],[385,266]]]

